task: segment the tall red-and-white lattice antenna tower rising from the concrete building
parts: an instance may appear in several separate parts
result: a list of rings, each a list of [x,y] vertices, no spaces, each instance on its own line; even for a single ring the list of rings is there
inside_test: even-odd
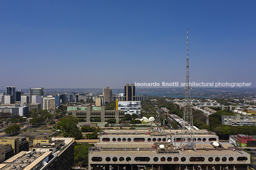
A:
[[[195,149],[195,138],[193,129],[193,117],[191,108],[190,84],[189,84],[189,33],[187,29],[187,66],[186,66],[186,85],[185,101],[183,108],[183,122],[181,129],[181,148]]]

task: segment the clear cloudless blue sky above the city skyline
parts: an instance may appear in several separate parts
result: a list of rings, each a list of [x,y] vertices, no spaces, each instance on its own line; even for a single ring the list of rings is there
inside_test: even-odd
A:
[[[0,0],[0,89],[256,87],[256,0]],[[160,86],[161,87],[161,86]]]

